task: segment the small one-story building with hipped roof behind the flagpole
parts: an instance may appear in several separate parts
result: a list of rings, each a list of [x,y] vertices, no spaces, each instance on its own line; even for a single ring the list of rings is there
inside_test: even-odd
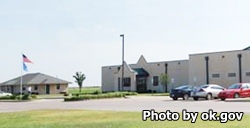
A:
[[[22,93],[27,94],[28,88],[33,94],[60,94],[68,91],[71,82],[42,73],[30,73],[22,76]],[[0,90],[12,94],[20,94],[21,77],[0,84]]]

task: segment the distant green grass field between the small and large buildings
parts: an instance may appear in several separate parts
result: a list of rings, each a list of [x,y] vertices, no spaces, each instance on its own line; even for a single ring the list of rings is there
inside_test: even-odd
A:
[[[101,92],[101,87],[84,87],[84,88],[82,88],[81,93],[82,94],[91,94],[91,93],[94,93],[96,91]],[[79,88],[78,87],[69,88],[68,93],[71,93],[71,94],[79,93]]]

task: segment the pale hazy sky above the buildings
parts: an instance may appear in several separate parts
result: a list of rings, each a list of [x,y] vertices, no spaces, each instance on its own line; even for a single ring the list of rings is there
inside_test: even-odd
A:
[[[101,67],[250,46],[249,0],[1,0],[0,83],[41,72],[101,86]],[[34,64],[22,71],[22,53]]]

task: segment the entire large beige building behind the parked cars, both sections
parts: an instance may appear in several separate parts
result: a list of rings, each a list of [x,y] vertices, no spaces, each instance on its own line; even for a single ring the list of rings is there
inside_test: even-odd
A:
[[[167,89],[160,76],[167,74]],[[169,91],[180,85],[219,84],[228,87],[234,83],[250,82],[250,47],[243,50],[190,54],[188,60],[147,62],[141,56],[136,64],[102,67],[102,91]]]

